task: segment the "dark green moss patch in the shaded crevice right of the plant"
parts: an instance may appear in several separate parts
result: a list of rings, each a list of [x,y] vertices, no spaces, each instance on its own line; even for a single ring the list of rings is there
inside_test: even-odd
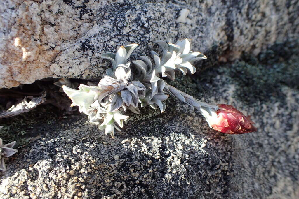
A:
[[[299,45],[275,44],[258,56],[244,53],[237,61],[202,72],[197,84],[212,83],[216,75],[228,76],[229,83],[236,86],[232,97],[246,104],[284,99],[282,86],[299,89]]]

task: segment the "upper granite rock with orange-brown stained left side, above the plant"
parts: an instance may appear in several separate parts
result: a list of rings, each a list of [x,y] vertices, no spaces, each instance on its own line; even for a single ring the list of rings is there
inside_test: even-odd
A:
[[[99,55],[133,42],[141,44],[135,55],[143,55],[158,39],[191,38],[214,63],[298,38],[294,0],[150,2],[1,1],[0,88],[47,77],[99,78],[107,63]]]

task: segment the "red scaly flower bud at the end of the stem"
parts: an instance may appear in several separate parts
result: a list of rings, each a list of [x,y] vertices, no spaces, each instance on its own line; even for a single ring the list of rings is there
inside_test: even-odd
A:
[[[235,107],[227,104],[218,104],[216,111],[218,120],[211,127],[217,131],[229,134],[242,134],[257,131],[250,120],[250,116],[245,116]]]

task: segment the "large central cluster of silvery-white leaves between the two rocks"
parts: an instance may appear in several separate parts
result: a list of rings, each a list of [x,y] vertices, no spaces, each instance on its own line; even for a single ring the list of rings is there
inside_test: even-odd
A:
[[[176,44],[161,40],[157,43],[163,49],[161,58],[158,53],[151,51],[152,58],[143,55],[132,64],[127,60],[138,44],[121,46],[116,53],[103,53],[101,57],[111,60],[112,68],[106,70],[98,86],[81,84],[79,90],[65,86],[70,85],[66,83],[62,86],[73,101],[71,106],[79,106],[79,111],[87,114],[91,123],[97,124],[99,129],[105,129],[105,134],[110,134],[112,138],[115,129],[120,131],[123,121],[129,118],[123,115],[125,111],[140,114],[138,104],[154,109],[159,107],[164,112],[165,100],[169,97],[167,93],[190,106],[205,106],[206,103],[169,86],[163,77],[174,81],[175,70],[180,70],[184,75],[190,70],[193,74],[196,68],[190,62],[206,59],[206,56],[192,52],[188,39]]]

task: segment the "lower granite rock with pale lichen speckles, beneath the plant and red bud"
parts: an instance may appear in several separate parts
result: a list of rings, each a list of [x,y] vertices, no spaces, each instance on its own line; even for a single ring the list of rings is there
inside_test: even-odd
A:
[[[298,64],[298,56],[287,63]],[[298,198],[298,88],[270,82],[278,94],[267,87],[269,92],[259,92],[265,98],[253,97],[237,81],[251,81],[243,78],[248,74],[234,77],[234,70],[231,64],[215,68],[198,84],[178,78],[176,87],[211,104],[234,105],[251,115],[258,132],[217,133],[175,100],[162,114],[148,108],[133,116],[115,139],[87,123],[85,115],[70,116],[7,161],[0,197]],[[253,86],[263,85],[260,81]],[[202,88],[205,95],[194,94]]]

